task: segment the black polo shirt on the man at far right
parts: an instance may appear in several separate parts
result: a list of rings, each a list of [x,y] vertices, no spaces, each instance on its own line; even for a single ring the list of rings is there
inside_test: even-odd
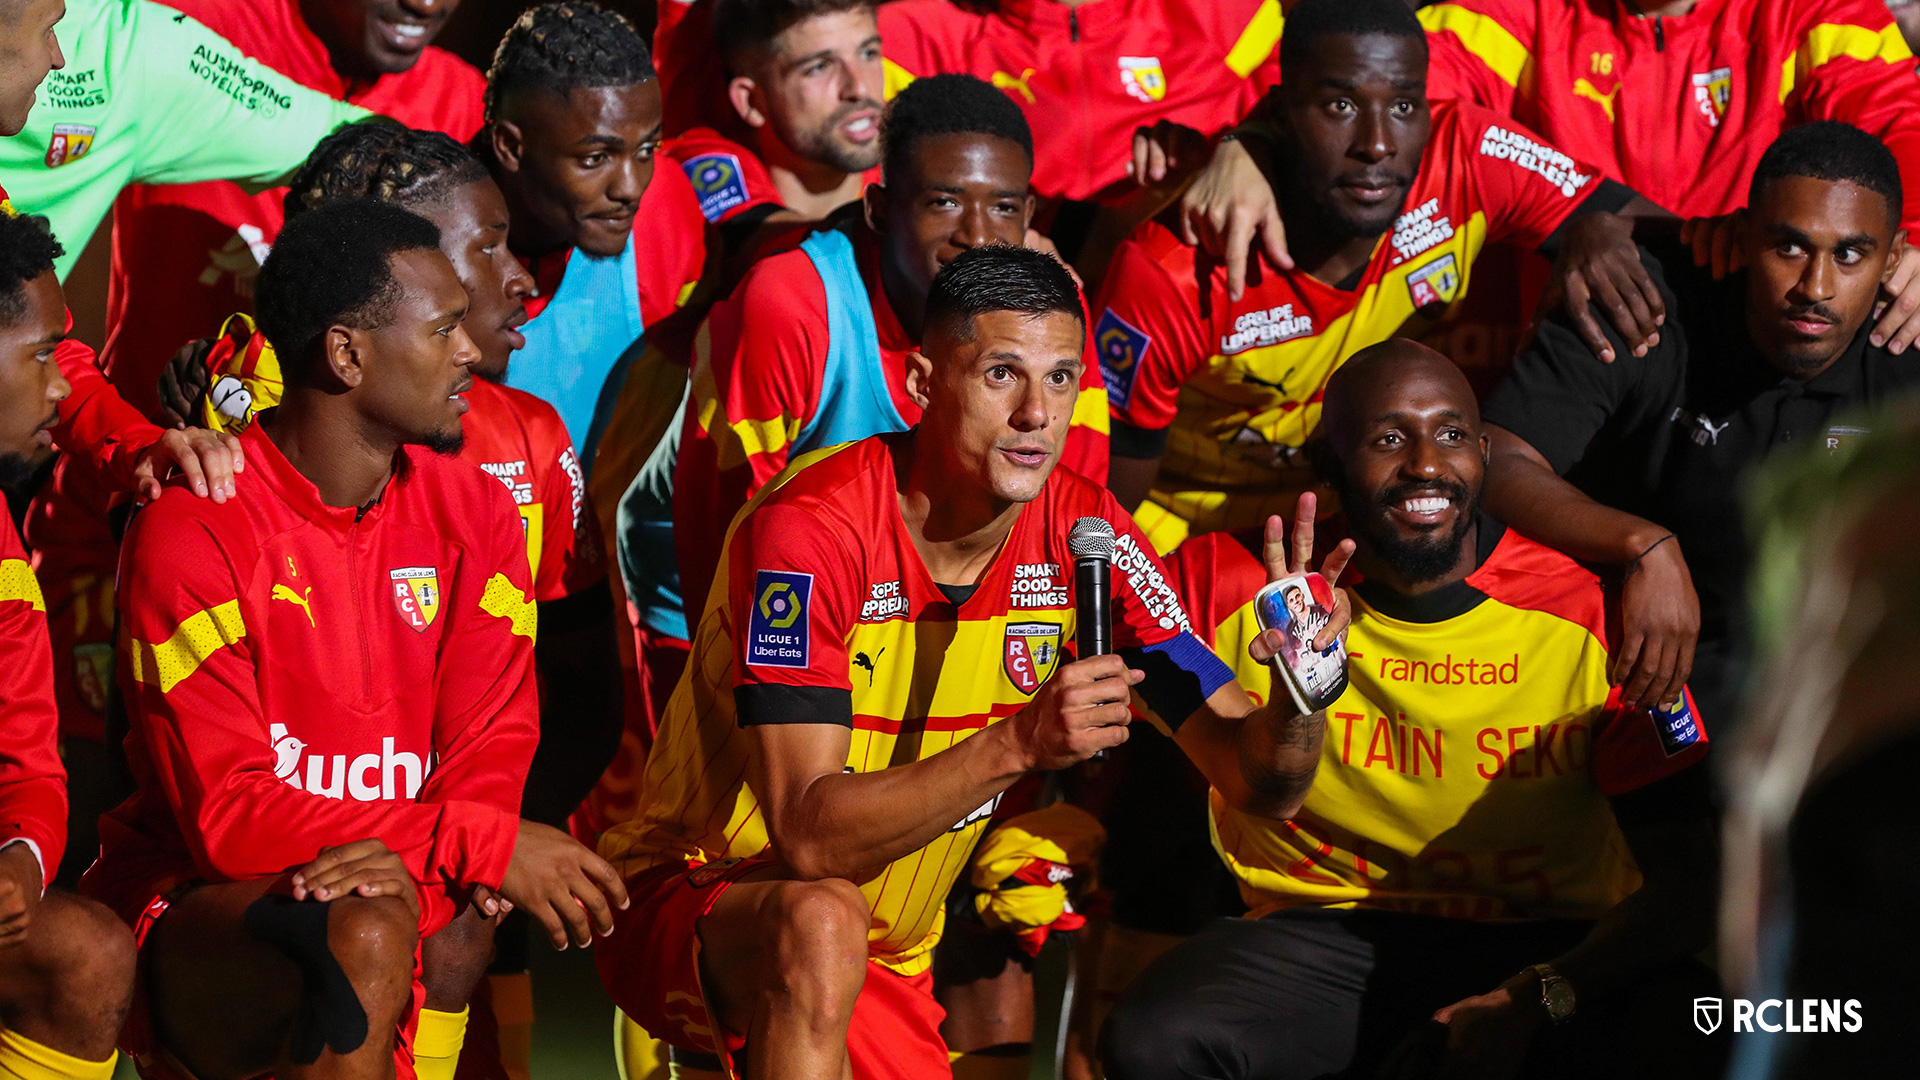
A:
[[[1866,434],[1866,413],[1920,388],[1920,354],[1876,348],[1868,321],[1826,371],[1789,379],[1747,338],[1747,275],[1713,281],[1682,248],[1661,250],[1665,271],[1642,250],[1667,300],[1659,346],[1632,356],[1601,315],[1620,357],[1601,363],[1555,315],[1482,417],[1530,442],[1594,500],[1674,532],[1701,607],[1693,690],[1726,715],[1745,640],[1749,473],[1782,448],[1834,450]],[[1709,723],[1718,719],[1709,713]]]

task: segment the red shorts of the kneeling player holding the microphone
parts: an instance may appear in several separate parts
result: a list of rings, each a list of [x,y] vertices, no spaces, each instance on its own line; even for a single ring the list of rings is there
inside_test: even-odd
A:
[[[626,882],[632,903],[614,913],[612,936],[593,944],[601,982],[622,1013],[670,1045],[718,1053],[735,1074],[745,1063],[730,1055],[745,1040],[707,1011],[695,924],[733,882],[764,865],[722,859],[636,874]],[[945,1019],[933,999],[933,972],[908,976],[868,963],[847,1032],[852,1080],[950,1080]]]

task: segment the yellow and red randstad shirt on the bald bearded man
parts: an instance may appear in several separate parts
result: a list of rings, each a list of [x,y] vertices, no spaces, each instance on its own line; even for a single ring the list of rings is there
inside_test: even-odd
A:
[[[1350,682],[1292,821],[1213,796],[1213,844],[1252,915],[1594,919],[1640,886],[1607,799],[1707,753],[1692,696],[1670,713],[1620,709],[1599,578],[1484,517],[1478,553],[1463,582],[1421,598],[1352,590]],[[1246,651],[1260,561],[1215,532],[1167,567],[1183,590],[1200,586],[1183,592],[1208,605],[1194,621],[1263,698],[1273,675]]]

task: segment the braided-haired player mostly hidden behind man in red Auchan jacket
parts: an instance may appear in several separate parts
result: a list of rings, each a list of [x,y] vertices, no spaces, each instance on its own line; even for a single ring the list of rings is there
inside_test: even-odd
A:
[[[526,298],[534,286],[505,246],[507,204],[472,150],[438,131],[386,121],[348,125],[323,138],[288,181],[286,217],[294,221],[346,198],[394,202],[426,217],[440,229],[440,248],[467,288],[470,307],[463,329],[480,350],[480,359],[472,365],[478,379],[461,417],[461,457],[499,479],[513,494],[543,621],[534,650],[541,742],[520,813],[528,821],[564,826],[618,746],[620,667],[612,646],[607,561],[588,513],[586,480],[566,425],[547,402],[501,386],[513,352],[524,344],[518,327],[526,323]],[[186,361],[182,392],[200,398],[209,382],[234,382],[259,402],[261,380],[280,380],[271,359],[261,363],[252,356],[242,365],[244,350],[225,350],[223,356],[232,361],[219,363],[221,371],[211,375],[198,356]],[[200,415],[200,409],[194,402],[180,405],[182,415]],[[492,1034],[495,1024],[518,1024],[513,1017],[528,1013],[509,1005],[530,1001],[532,994],[526,917],[515,913],[495,942],[492,924],[470,915],[468,909],[455,926],[422,944],[426,1005],[415,1045],[422,1076],[430,1076],[430,1063],[453,1068],[463,1015],[474,980],[488,967],[490,949],[497,947],[499,959],[492,965],[490,994],[474,999],[472,1022]],[[490,1007],[495,1001],[499,1009]],[[442,1032],[445,1038],[430,1038]],[[490,1053],[493,1045],[507,1053],[509,1045],[526,1042],[490,1034],[478,1034],[470,1055]],[[511,1072],[515,1061],[505,1065]]]

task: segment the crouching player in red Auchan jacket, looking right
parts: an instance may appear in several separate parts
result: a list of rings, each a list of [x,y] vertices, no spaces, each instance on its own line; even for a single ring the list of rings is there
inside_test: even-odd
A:
[[[167,490],[123,546],[140,788],[83,886],[144,951],[127,1042],[196,1080],[449,1074],[476,922],[586,945],[626,899],[518,819],[536,607],[513,498],[451,457],[480,354],[438,244],[359,200],[288,223],[255,294],[286,388],[240,434],[242,498]],[[476,944],[444,1001],[436,932]]]

